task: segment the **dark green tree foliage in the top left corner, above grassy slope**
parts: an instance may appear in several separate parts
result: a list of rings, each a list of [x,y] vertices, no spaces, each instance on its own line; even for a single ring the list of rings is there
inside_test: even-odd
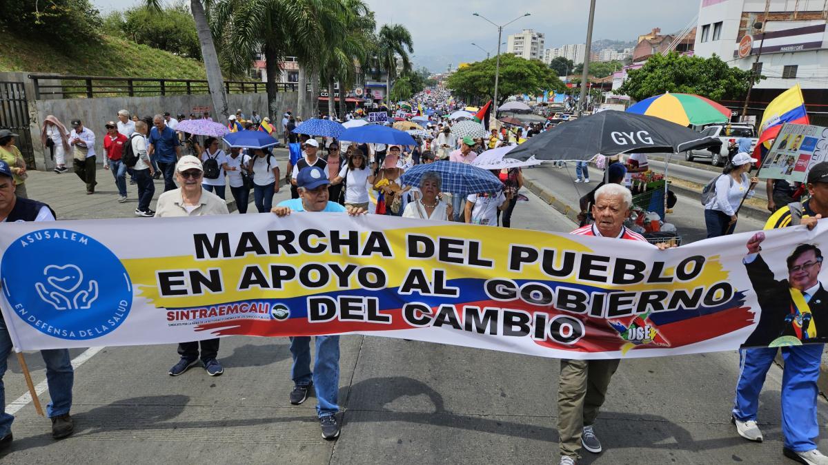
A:
[[[100,38],[103,20],[89,0],[5,0],[0,30],[50,39],[64,48]]]

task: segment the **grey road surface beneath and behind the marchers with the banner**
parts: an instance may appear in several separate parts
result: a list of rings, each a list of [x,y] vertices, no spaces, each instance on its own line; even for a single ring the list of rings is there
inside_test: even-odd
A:
[[[570,169],[571,170],[571,169]],[[566,170],[527,170],[556,189],[575,189]],[[85,195],[75,175],[31,173],[32,198],[60,205],[61,218],[130,216],[117,204],[108,174],[101,193]],[[588,187],[588,186],[584,186]],[[160,189],[159,189],[160,190]],[[581,189],[583,190],[583,189]],[[285,191],[277,199],[286,197]],[[568,232],[574,225],[536,196],[518,204],[520,228]],[[700,206],[683,199],[676,224],[689,237]],[[693,218],[696,216],[696,221]],[[152,221],[152,219],[147,219]],[[739,228],[755,225],[740,222]],[[703,228],[703,225],[701,226]],[[504,230],[504,234],[508,231]],[[15,440],[3,463],[556,463],[554,359],[397,339],[345,336],[339,402],[344,426],[336,442],[320,437],[311,398],[288,403],[286,338],[224,338],[223,376],[194,368],[166,374],[173,345],[73,350],[75,434],[51,439],[37,417],[15,357],[5,376],[14,403]],[[45,386],[42,360],[26,354],[34,382]],[[739,438],[729,423],[739,373],[735,352],[628,360],[621,364],[597,424],[604,453],[581,463],[791,463],[782,457],[779,386],[772,367],[761,396],[764,443]],[[44,404],[48,394],[43,393]],[[17,401],[15,401],[17,400]],[[819,400],[826,423],[826,402]],[[828,441],[821,440],[823,450]]]

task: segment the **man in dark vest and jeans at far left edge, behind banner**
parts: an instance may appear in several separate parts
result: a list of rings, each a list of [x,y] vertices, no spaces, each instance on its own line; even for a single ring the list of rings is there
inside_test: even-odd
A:
[[[24,199],[14,194],[12,169],[0,161],[0,222],[55,221],[55,212],[49,205],[36,200]],[[12,444],[12,421],[6,413],[6,394],[2,376],[6,373],[7,358],[12,352],[12,338],[9,337],[6,321],[0,315],[0,451]],[[72,384],[75,371],[67,349],[41,350],[46,362],[46,382],[51,402],[46,405],[46,415],[52,422],[52,437],[65,438],[75,430],[69,410],[72,406]]]

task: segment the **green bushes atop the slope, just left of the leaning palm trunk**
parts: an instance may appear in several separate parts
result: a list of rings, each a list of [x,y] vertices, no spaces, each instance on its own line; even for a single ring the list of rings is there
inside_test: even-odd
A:
[[[103,18],[103,30],[111,36],[126,36],[131,41],[152,48],[201,59],[195,20],[183,2],[161,10],[142,6],[129,8],[123,13],[111,12]]]

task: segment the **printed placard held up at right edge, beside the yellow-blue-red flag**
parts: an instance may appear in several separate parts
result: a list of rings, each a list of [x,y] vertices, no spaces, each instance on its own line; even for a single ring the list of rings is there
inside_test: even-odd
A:
[[[786,123],[764,156],[758,177],[805,182],[811,166],[821,161],[828,161],[828,128]]]

